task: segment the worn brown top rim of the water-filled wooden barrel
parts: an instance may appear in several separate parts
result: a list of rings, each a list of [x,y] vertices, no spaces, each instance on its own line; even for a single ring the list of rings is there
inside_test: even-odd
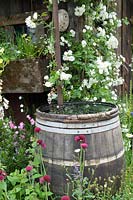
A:
[[[114,118],[118,115],[118,107],[115,104],[112,103],[103,103],[103,102],[74,102],[73,104],[77,105],[83,105],[83,104],[97,104],[97,105],[105,105],[111,107],[111,110],[105,111],[105,112],[97,112],[97,113],[89,113],[89,114],[55,114],[55,113],[49,113],[49,105],[46,106],[40,106],[36,109],[36,117],[44,119],[44,120],[50,120],[50,121],[60,121],[60,122],[79,122],[79,121],[103,121],[106,119]],[[65,103],[65,105],[70,105],[72,103]],[[55,104],[56,105],[56,104]],[[42,111],[43,107],[43,111]]]

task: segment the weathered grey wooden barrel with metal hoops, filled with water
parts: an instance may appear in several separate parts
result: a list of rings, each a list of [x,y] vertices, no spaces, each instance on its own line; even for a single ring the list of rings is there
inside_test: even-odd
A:
[[[47,144],[44,160],[52,177],[52,190],[55,193],[65,192],[66,168],[72,170],[75,166],[74,151],[79,148],[79,144],[74,141],[76,135],[84,134],[87,138],[86,176],[90,176],[88,168],[93,168],[95,177],[101,177],[102,180],[118,177],[124,169],[118,108],[109,103],[88,104],[93,111],[89,114],[54,114],[49,112],[48,107],[37,109],[36,126],[41,128],[41,139]],[[82,107],[83,103],[76,104],[76,107],[77,105]],[[93,108],[101,105],[105,111],[99,109],[99,112],[94,113]]]

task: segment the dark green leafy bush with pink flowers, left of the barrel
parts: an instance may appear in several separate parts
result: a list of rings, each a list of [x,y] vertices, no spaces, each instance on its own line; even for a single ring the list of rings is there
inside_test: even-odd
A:
[[[19,170],[28,164],[27,149],[31,147],[30,139],[34,133],[34,125],[28,121],[23,129],[15,124],[14,128],[11,128],[12,123],[8,118],[0,120],[0,160],[6,166],[7,173]]]

